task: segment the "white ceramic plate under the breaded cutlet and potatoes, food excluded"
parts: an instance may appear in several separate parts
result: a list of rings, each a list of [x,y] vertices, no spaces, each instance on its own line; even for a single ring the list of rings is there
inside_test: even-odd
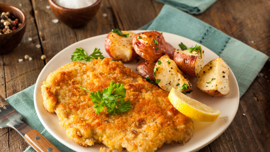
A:
[[[138,33],[145,30],[133,30],[133,32]],[[107,34],[94,36],[91,38],[87,38],[81,41],[78,41],[63,50],[61,50],[59,53],[57,53],[51,60],[44,66],[42,71],[40,72],[35,88],[34,88],[34,106],[36,113],[41,121],[41,123],[44,125],[44,127],[48,130],[48,132],[56,138],[58,141],[60,141],[65,146],[69,147],[70,149],[73,149],[75,151],[99,151],[99,148],[105,145],[99,145],[95,143],[93,146],[88,147],[82,147],[78,144],[76,144],[74,141],[69,139],[65,134],[65,129],[59,124],[59,119],[56,116],[55,113],[48,113],[43,106],[43,99],[41,95],[41,85],[42,81],[45,81],[47,78],[47,75],[50,72],[53,72],[57,68],[61,67],[62,65],[65,65],[69,62],[71,62],[71,55],[75,48],[82,47],[87,54],[90,54],[95,47],[100,48],[100,51],[103,52],[103,55],[105,57],[109,57],[109,55],[106,53],[104,48],[104,41]],[[180,42],[183,42],[187,47],[190,47],[191,45],[201,45],[193,40],[190,40],[188,38],[163,32],[163,36],[167,42],[169,42],[171,45],[173,45],[176,49],[179,48],[178,44]],[[210,49],[206,48],[205,46],[201,45],[201,48],[204,50],[204,64],[209,62],[212,59],[215,59],[217,55],[211,51]],[[140,58],[139,62],[143,61],[142,58]],[[138,63],[139,63],[138,62]],[[135,71],[136,65],[138,64],[136,62],[136,59],[129,62],[124,63],[125,66],[130,67],[133,71]],[[136,71],[135,71],[136,72]],[[161,146],[161,148],[158,148],[157,151],[196,151],[200,148],[206,146],[210,142],[212,142],[214,139],[216,139],[222,132],[225,131],[225,129],[229,126],[231,121],[233,120],[236,111],[238,109],[239,104],[239,89],[237,85],[237,81],[231,71],[229,69],[229,94],[223,97],[212,97],[208,94],[205,94],[201,91],[199,91],[196,86],[196,78],[190,77],[190,82],[192,83],[192,89],[193,91],[190,94],[187,94],[189,97],[194,98],[214,109],[218,109],[221,111],[219,117],[214,122],[199,122],[196,120],[194,121],[194,127],[195,131],[191,139],[185,144],[164,144]]]

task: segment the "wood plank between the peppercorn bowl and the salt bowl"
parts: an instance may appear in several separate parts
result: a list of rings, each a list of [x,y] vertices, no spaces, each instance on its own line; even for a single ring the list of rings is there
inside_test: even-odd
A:
[[[48,62],[60,50],[76,42],[76,35],[73,28],[60,21],[52,22],[56,17],[50,8],[46,8],[49,6],[47,0],[32,0],[32,6],[45,61]]]

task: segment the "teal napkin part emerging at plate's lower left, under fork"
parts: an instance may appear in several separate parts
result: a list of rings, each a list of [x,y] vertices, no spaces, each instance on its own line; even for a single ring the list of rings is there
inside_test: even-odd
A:
[[[40,132],[45,138],[47,138],[52,144],[54,144],[60,151],[73,151],[57,141],[48,131],[44,128],[39,121],[34,108],[33,102],[34,84],[12,96],[9,96],[5,100],[21,115],[23,115],[22,121],[26,122],[33,129]],[[34,152],[29,146],[26,152]]]

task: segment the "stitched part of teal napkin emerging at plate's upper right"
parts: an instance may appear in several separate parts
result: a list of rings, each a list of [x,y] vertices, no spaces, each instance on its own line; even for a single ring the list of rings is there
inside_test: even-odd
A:
[[[170,5],[164,5],[153,21],[139,29],[155,29],[181,35],[215,52],[233,71],[240,97],[269,58],[264,53]]]

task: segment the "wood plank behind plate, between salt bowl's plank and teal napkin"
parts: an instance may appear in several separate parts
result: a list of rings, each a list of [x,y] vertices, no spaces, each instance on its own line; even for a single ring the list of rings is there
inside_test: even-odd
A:
[[[135,30],[153,20],[157,13],[150,0],[109,0],[120,30]]]

